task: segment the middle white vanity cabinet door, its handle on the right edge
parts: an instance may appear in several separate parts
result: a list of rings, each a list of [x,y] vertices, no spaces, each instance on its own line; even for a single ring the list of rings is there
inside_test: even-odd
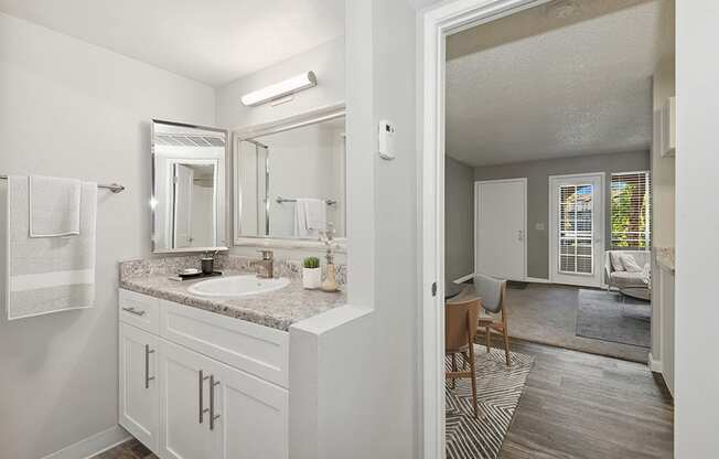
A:
[[[212,361],[160,340],[160,457],[207,459],[212,437],[207,404]]]

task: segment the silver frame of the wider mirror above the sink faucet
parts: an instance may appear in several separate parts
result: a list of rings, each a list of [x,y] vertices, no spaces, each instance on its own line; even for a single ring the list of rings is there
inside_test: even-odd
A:
[[[311,239],[293,239],[287,237],[272,237],[272,236],[244,236],[239,234],[239,213],[237,212],[237,203],[240,202],[240,188],[235,183],[235,178],[239,177],[239,161],[237,160],[237,154],[239,152],[238,145],[243,140],[253,140],[261,136],[269,136],[271,134],[278,134],[290,129],[301,128],[303,126],[314,125],[322,121],[329,121],[330,119],[335,119],[340,117],[345,117],[346,119],[346,109],[344,102],[329,105],[325,107],[316,108],[314,110],[304,111],[299,115],[291,116],[289,118],[283,118],[277,121],[265,122],[261,125],[249,126],[233,131],[233,154],[232,154],[232,186],[233,186],[233,235],[234,235],[234,245],[244,246],[244,247],[271,247],[271,248],[307,248],[307,249],[324,249],[324,244],[319,241]],[[346,121],[345,121],[346,122]],[[348,211],[348,205],[346,203],[346,183],[345,183],[345,220]],[[346,230],[345,230],[346,232]],[[345,233],[346,234],[346,233]],[[346,253],[347,252],[347,238],[337,237],[335,238],[337,246],[335,248],[336,253]]]

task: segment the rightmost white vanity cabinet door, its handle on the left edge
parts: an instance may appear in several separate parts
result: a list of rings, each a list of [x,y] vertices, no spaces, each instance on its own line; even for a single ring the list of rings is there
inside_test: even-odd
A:
[[[213,373],[216,459],[286,459],[287,389],[222,363]]]

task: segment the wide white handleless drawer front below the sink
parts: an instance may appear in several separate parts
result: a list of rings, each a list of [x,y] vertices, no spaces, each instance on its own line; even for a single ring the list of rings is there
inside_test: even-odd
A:
[[[160,300],[160,334],[215,360],[288,387],[289,333]]]

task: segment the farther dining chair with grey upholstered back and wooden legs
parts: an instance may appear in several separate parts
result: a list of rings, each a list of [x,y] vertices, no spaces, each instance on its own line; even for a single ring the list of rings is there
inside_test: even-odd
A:
[[[504,338],[504,354],[507,366],[512,364],[509,357],[509,329],[507,327],[507,312],[504,307],[507,281],[498,280],[483,274],[474,275],[474,289],[482,300],[482,308],[492,314],[500,314],[500,320],[493,316],[481,316],[477,327],[484,329],[486,334],[486,352],[492,350],[492,333]]]

